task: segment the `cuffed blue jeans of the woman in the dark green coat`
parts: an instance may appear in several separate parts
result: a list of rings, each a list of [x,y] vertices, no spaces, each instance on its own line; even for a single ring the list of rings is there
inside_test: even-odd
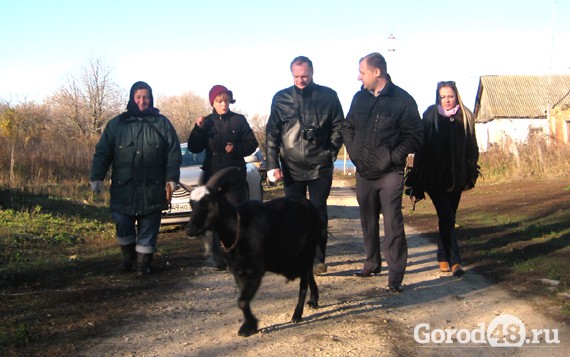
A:
[[[162,212],[153,212],[144,216],[112,212],[111,217],[115,222],[117,241],[120,245],[136,243],[138,253],[156,253]]]

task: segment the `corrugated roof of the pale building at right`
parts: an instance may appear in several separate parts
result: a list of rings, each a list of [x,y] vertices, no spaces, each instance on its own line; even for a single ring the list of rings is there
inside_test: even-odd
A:
[[[570,75],[481,76],[475,100],[477,121],[546,118],[550,108],[570,105]]]

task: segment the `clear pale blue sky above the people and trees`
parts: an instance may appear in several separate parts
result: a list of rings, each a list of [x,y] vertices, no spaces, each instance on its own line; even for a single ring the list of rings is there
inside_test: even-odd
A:
[[[125,95],[138,80],[155,96],[206,97],[224,84],[249,116],[292,85],[297,55],[345,112],[370,52],[385,55],[420,112],[440,80],[455,80],[473,108],[481,75],[570,73],[570,0],[19,0],[0,14],[0,99],[12,104],[43,102],[90,59]]]

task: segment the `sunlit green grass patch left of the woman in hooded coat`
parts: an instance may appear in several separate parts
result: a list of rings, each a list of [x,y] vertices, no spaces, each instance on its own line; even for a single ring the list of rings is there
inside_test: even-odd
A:
[[[65,197],[0,189],[0,287],[41,279],[100,258],[114,241],[106,208]]]

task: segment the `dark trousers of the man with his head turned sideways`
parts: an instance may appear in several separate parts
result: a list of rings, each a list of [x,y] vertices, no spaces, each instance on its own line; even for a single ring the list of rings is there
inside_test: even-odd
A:
[[[399,285],[408,262],[408,244],[404,233],[402,192],[404,173],[391,172],[375,180],[356,174],[356,199],[364,235],[365,269],[382,266],[380,252],[388,264],[388,284]],[[384,237],[380,242],[380,213],[384,217]]]

